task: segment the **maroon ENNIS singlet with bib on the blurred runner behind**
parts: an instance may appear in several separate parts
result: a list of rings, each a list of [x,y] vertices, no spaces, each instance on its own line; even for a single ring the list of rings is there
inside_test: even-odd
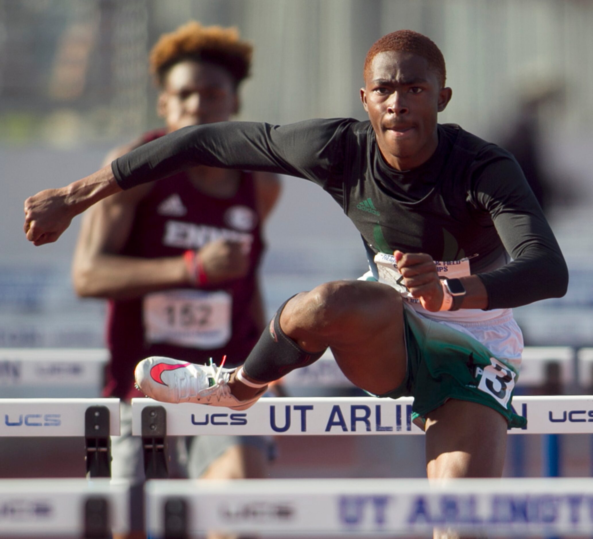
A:
[[[162,135],[164,131],[147,133],[145,142]],[[250,248],[250,270],[244,278],[222,288],[184,287],[109,302],[111,361],[106,396],[141,397],[134,388],[133,371],[136,363],[148,356],[194,363],[205,363],[212,357],[220,363],[226,354],[225,366],[243,363],[260,334],[249,306],[257,291],[256,275],[264,248],[251,173],[241,174],[237,193],[228,199],[199,192],[185,173],[155,183],[136,208],[130,237],[120,254],[181,256],[187,249],[197,250],[219,237],[241,241]],[[199,331],[192,331],[195,327]]]

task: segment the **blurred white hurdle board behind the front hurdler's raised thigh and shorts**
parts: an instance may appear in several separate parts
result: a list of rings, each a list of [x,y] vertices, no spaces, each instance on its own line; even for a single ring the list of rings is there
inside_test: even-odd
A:
[[[592,349],[593,352],[593,349]],[[526,346],[523,350],[521,372],[517,387],[537,387],[546,383],[546,368],[550,363],[558,363],[562,384],[572,384],[575,352],[570,346]],[[354,388],[337,366],[333,354],[328,349],[315,363],[295,369],[283,378],[286,387],[295,388]]]

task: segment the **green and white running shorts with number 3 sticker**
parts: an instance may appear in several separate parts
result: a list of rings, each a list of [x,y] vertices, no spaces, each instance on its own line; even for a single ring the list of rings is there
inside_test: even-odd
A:
[[[407,375],[404,382],[379,397],[413,396],[415,423],[423,426],[424,417],[449,398],[471,401],[495,409],[505,417],[509,428],[527,424],[511,408],[512,394],[518,378],[519,361],[496,357],[471,336],[471,331],[457,330],[455,324],[431,320],[404,305],[404,331],[407,349]],[[514,328],[521,334],[512,315],[509,320],[488,321],[483,330],[489,334],[504,333],[504,324],[513,339]],[[497,327],[499,324],[499,327]],[[476,328],[472,328],[476,333]],[[477,328],[480,331],[480,328]],[[522,339],[520,343],[522,348]],[[520,350],[519,350],[520,351]],[[513,365],[515,363],[515,365]]]

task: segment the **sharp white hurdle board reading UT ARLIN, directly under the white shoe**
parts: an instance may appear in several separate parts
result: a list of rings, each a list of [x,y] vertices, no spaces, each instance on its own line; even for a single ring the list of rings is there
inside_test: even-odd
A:
[[[235,411],[134,398],[132,433],[142,434],[144,407],[162,406],[168,436],[423,434],[412,422],[412,403],[411,397],[274,397]],[[593,396],[517,396],[513,406],[527,417],[527,428],[511,429],[511,434],[593,433]]]

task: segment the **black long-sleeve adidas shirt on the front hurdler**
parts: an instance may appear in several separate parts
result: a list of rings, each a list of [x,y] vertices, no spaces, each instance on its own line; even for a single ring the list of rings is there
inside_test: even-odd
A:
[[[564,295],[566,263],[511,154],[455,125],[438,134],[432,157],[404,172],[384,161],[370,122],[353,119],[186,127],[112,168],[123,189],[196,165],[306,178],[342,205],[374,253],[470,257],[489,309]]]

